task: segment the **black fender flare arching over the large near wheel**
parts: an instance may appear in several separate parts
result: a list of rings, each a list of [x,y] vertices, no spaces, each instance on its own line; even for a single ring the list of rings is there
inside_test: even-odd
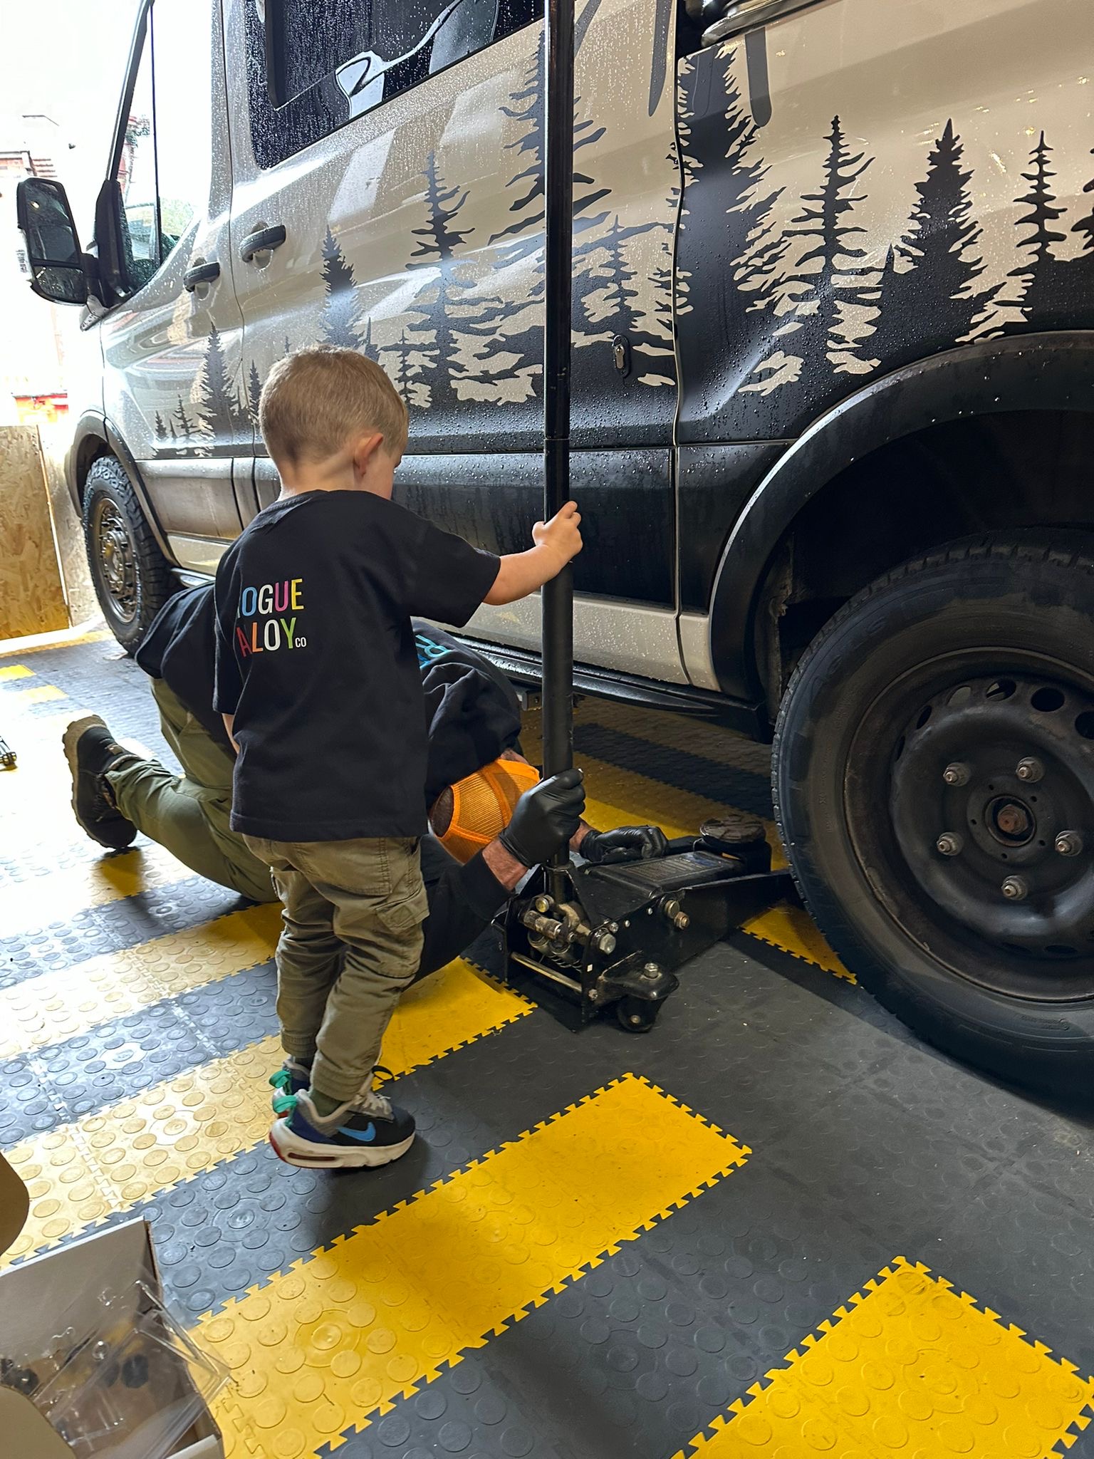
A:
[[[931,425],[1012,410],[1094,413],[1094,330],[958,346],[855,391],[815,420],[763,477],[715,575],[710,654],[726,694],[761,692],[753,624],[767,566],[802,508],[840,471]]]

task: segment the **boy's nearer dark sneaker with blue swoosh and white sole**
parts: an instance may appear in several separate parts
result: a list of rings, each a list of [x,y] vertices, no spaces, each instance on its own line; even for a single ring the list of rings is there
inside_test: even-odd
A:
[[[306,1090],[276,1119],[270,1144],[289,1166],[356,1170],[387,1166],[414,1144],[414,1118],[384,1094],[368,1090],[321,1119]]]

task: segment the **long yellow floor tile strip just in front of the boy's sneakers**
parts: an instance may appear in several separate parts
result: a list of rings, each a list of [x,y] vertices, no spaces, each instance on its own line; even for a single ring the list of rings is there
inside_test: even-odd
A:
[[[229,1453],[337,1443],[747,1154],[624,1075],[230,1301],[195,1331],[232,1369],[228,1404],[257,1440]]]

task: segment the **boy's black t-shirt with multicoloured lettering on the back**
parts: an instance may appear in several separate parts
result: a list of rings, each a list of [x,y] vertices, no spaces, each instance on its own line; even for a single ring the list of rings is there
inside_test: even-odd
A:
[[[232,829],[420,836],[426,713],[411,614],[462,626],[497,557],[372,492],[277,500],[220,559],[216,694],[235,713]]]

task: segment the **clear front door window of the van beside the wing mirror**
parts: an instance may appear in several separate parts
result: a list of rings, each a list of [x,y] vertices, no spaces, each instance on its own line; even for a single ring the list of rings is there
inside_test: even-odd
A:
[[[143,289],[209,206],[212,22],[193,0],[155,0],[117,179],[123,267]]]

